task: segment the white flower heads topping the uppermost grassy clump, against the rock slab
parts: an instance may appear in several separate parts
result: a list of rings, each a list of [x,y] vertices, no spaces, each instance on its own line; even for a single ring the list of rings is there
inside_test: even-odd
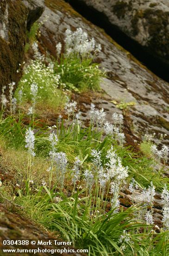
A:
[[[101,45],[96,44],[94,38],[88,39],[88,34],[84,32],[81,28],[77,28],[75,32],[67,29],[65,32],[65,52],[67,55],[70,54],[80,54],[85,56],[91,54],[92,52],[98,53],[101,51]],[[62,44],[58,43],[56,45],[57,54],[61,53]]]

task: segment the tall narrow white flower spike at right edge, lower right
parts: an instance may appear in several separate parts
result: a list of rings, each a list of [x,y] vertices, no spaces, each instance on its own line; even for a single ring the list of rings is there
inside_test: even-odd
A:
[[[164,185],[163,192],[161,194],[163,203],[163,219],[164,229],[169,230],[169,190],[167,185]]]

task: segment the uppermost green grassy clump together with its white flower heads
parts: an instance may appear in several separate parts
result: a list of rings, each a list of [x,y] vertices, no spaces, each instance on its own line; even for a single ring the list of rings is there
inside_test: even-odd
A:
[[[64,54],[62,53],[64,48]],[[100,44],[88,39],[81,28],[65,32],[64,45],[56,45],[56,72],[60,74],[63,86],[74,90],[99,90],[100,79],[105,74],[93,63],[101,50]]]

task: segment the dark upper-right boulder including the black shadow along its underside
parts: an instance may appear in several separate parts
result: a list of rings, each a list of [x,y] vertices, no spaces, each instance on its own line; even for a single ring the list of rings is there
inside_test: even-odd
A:
[[[103,21],[107,19],[110,26],[112,24],[119,28],[127,37],[140,44],[156,65],[160,61],[163,68],[169,72],[168,0],[70,0],[70,2],[74,6],[85,4],[100,15],[100,19]]]

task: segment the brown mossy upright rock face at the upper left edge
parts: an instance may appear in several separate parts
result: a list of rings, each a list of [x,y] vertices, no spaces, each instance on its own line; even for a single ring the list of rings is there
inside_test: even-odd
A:
[[[21,78],[19,63],[24,56],[26,19],[27,8],[21,0],[0,1],[0,90]]]

